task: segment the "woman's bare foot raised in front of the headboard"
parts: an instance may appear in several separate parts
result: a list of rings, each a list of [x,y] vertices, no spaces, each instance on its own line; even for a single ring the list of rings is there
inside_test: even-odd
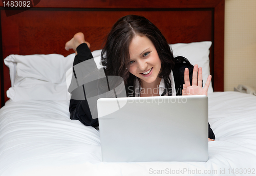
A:
[[[84,35],[81,32],[78,32],[74,35],[73,38],[71,38],[71,40],[69,40],[66,45],[65,45],[65,50],[69,51],[70,49],[73,49],[76,52],[76,48],[81,44],[81,43],[87,43],[88,47],[90,48],[91,45],[89,42],[87,42],[86,40],[84,40]]]

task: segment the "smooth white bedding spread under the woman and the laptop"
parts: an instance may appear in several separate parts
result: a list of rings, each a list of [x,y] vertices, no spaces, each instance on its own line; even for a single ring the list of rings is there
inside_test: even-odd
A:
[[[101,162],[99,132],[69,119],[69,101],[9,101],[0,109],[0,175],[255,175],[256,97],[208,97],[217,139],[207,162]]]

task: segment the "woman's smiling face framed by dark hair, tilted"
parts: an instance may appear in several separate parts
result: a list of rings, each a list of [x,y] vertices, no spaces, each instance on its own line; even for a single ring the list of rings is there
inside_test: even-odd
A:
[[[129,46],[129,54],[130,73],[138,77],[142,85],[159,85],[161,60],[153,42],[145,36],[135,35]]]

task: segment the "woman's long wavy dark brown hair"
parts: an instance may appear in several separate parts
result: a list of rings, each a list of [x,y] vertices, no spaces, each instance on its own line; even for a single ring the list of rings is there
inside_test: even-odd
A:
[[[129,72],[129,45],[135,35],[146,36],[153,42],[161,60],[162,72],[159,77],[164,79],[165,84],[165,90],[161,96],[166,93],[172,95],[172,82],[169,78],[175,65],[172,49],[170,49],[160,30],[143,16],[123,16],[112,27],[101,52],[105,74],[121,76],[124,80],[127,97],[135,96],[136,76]],[[181,59],[183,60],[183,57]],[[185,59],[185,61],[187,60]]]

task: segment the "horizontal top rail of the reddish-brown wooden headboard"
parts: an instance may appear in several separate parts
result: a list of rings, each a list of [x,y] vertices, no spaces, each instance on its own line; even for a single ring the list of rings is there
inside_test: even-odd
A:
[[[33,1],[35,7],[41,8],[212,8],[222,0],[40,0]],[[3,2],[0,2],[3,7]]]

